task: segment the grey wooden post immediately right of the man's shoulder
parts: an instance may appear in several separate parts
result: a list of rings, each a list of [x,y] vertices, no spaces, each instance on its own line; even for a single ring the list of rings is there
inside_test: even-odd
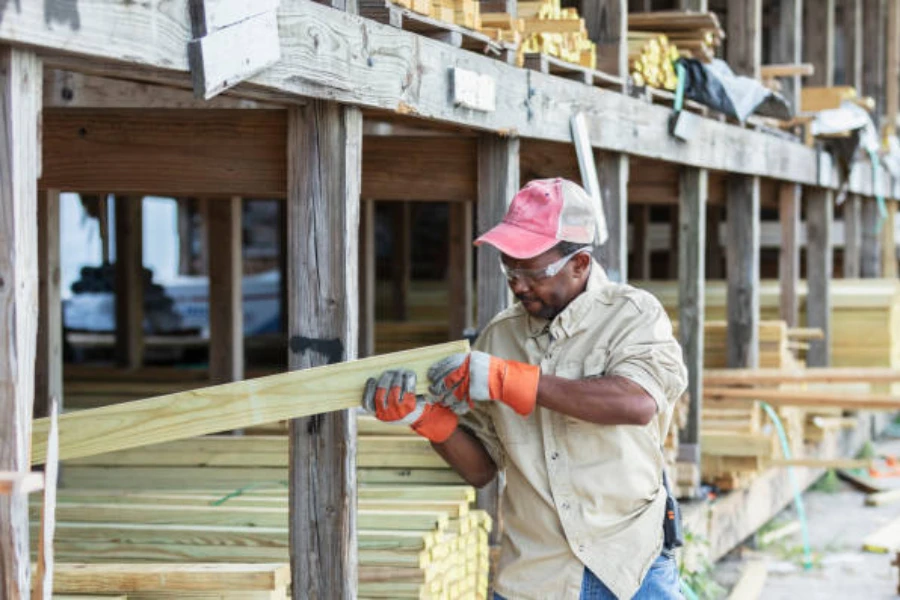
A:
[[[703,409],[703,323],[706,312],[706,169],[681,171],[678,235],[678,315],[681,346],[688,368],[691,408],[681,430],[681,454],[700,462],[700,415]],[[684,451],[681,449],[684,448]]]

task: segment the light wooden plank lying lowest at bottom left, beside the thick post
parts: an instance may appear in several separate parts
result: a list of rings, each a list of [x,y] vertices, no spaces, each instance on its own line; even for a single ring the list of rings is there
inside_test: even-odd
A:
[[[64,594],[275,591],[285,590],[290,581],[286,564],[61,563],[56,566],[56,591]]]

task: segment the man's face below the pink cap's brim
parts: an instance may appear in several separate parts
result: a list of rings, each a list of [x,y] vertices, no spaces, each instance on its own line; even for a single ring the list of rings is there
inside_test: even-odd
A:
[[[562,258],[555,248],[529,259],[512,258],[506,254],[501,256],[508,272],[509,287],[528,314],[553,319],[584,291],[590,255],[587,252],[576,254],[558,273],[545,277],[544,269]]]

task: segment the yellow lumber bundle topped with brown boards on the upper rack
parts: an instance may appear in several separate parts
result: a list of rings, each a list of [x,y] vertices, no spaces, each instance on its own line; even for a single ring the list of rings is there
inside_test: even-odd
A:
[[[638,86],[674,90],[673,62],[682,56],[709,62],[725,38],[715,13],[656,11],[628,15],[628,64]]]

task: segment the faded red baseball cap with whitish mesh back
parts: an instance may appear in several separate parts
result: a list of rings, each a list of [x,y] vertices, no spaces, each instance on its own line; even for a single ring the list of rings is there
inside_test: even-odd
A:
[[[513,258],[533,258],[559,242],[592,244],[597,234],[594,204],[567,179],[530,181],[512,199],[503,221],[475,240]]]

